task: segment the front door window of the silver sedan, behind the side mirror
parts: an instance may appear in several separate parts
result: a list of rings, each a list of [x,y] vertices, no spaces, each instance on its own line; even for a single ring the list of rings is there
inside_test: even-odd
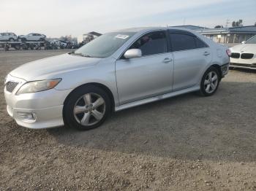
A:
[[[140,49],[143,56],[167,52],[165,31],[155,31],[142,36],[129,47],[129,49],[133,48]]]

